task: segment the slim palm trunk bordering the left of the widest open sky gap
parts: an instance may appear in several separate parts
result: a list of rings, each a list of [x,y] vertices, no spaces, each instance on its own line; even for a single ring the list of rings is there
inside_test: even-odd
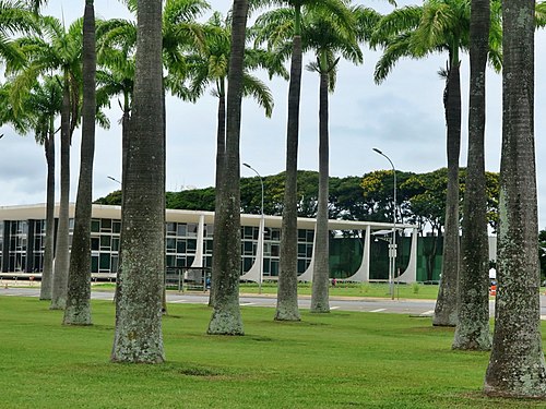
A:
[[[319,203],[314,238],[314,268],[312,272],[311,312],[330,312],[330,252],[328,230],[328,181],[329,181],[329,135],[328,135],[328,69],[320,72],[319,96]]]

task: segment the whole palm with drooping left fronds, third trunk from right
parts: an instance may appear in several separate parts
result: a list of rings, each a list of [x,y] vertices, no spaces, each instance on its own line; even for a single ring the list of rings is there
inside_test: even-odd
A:
[[[454,326],[458,321],[459,279],[459,156],[461,149],[460,53],[468,47],[470,0],[428,0],[422,7],[394,10],[379,22],[373,43],[384,51],[376,65],[376,82],[389,74],[403,57],[424,58],[448,53],[443,105],[447,124],[448,191],[443,242],[442,278],[435,309],[434,325]],[[494,45],[492,45],[494,46]],[[494,49],[491,49],[495,51]],[[499,67],[498,53],[490,59]]]

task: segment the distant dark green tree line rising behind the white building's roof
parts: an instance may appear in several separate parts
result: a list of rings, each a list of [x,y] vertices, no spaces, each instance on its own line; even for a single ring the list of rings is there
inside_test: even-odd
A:
[[[499,175],[487,172],[488,222],[495,231],[498,221]],[[460,176],[461,193],[465,188],[466,171]],[[419,232],[432,231],[441,236],[446,217],[447,169],[415,173],[396,171],[396,206],[400,222],[416,224]],[[298,171],[298,216],[316,217],[319,173]],[[285,172],[266,176],[264,212],[281,216]],[[258,177],[241,178],[241,212],[259,214],[261,185]],[[391,221],[393,199],[392,170],[376,170],[364,177],[330,178],[329,216],[331,219],[359,221]],[[462,195],[461,195],[462,196]],[[121,191],[115,191],[95,201],[97,204],[121,205]],[[191,189],[166,193],[167,208],[214,212],[215,189]],[[464,215],[462,216],[464,217]]]

